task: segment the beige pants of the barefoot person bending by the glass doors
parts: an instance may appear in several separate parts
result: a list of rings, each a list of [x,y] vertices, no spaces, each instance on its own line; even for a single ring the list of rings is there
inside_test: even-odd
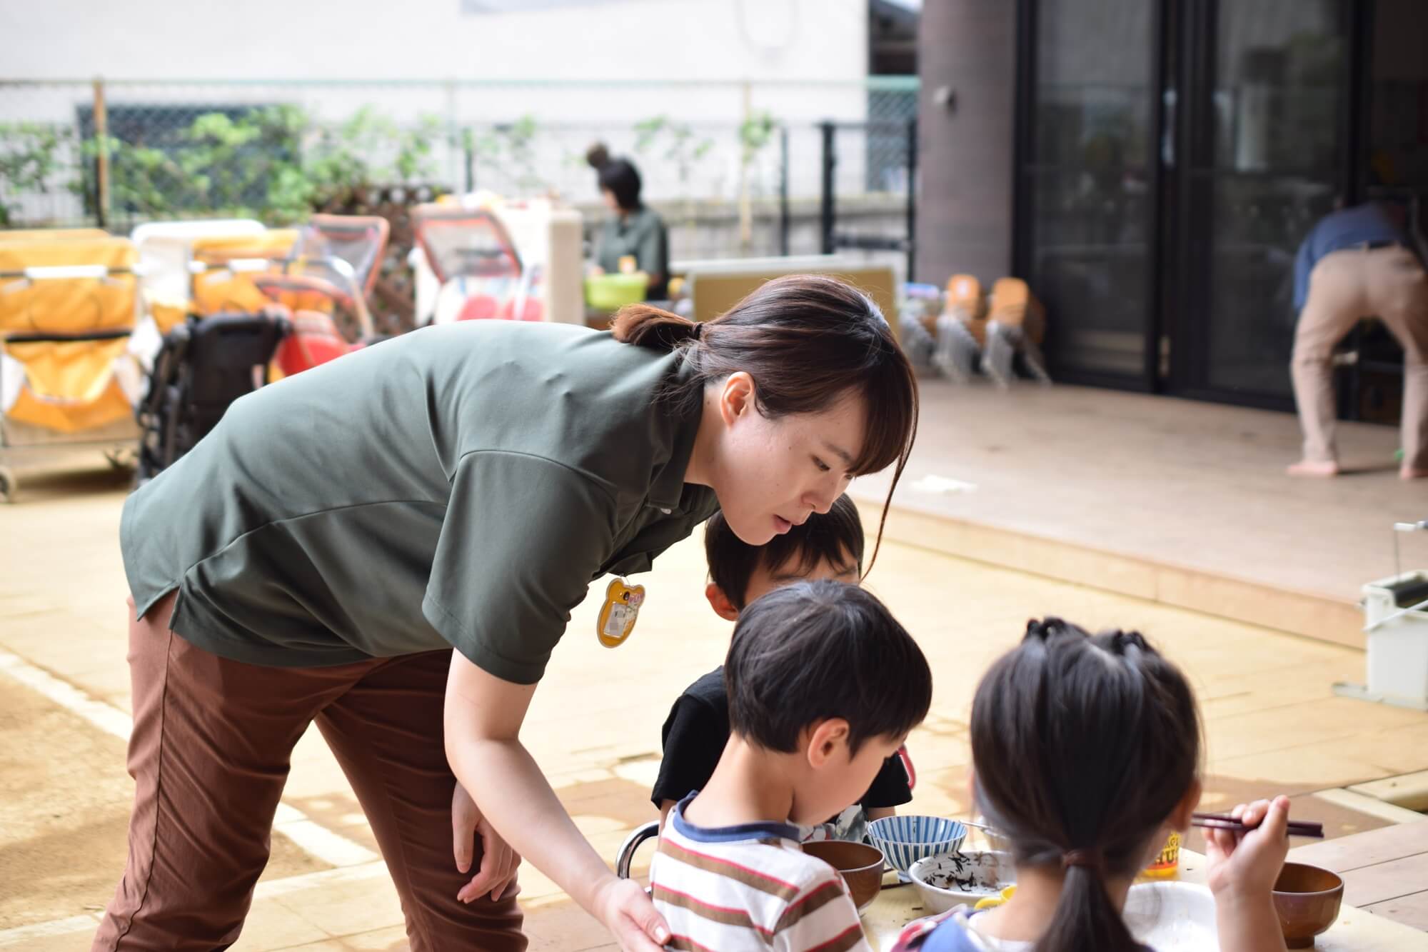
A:
[[[1428,469],[1428,274],[1404,247],[1345,249],[1319,259],[1294,333],[1294,400],[1304,459],[1337,462],[1334,347],[1378,317],[1404,347],[1404,465]]]

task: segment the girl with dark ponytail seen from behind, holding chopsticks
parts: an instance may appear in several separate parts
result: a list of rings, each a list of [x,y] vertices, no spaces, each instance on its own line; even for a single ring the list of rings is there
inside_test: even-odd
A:
[[[1011,842],[1017,892],[912,923],[897,952],[1147,952],[1121,909],[1135,875],[1200,800],[1200,712],[1185,676],[1137,632],[1031,622],[972,702],[972,795]],[[1271,891],[1287,798],[1207,830],[1221,952],[1284,949]]]

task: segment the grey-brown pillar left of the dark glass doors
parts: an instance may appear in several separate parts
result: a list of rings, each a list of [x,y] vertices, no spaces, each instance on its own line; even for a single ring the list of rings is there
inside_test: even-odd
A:
[[[922,4],[915,280],[971,273],[990,283],[1011,273],[1017,6]]]

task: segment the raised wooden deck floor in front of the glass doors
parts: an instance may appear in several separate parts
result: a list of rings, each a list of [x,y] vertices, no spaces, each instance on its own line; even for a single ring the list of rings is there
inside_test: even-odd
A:
[[[895,537],[951,555],[1361,645],[1395,522],[1428,517],[1394,429],[1341,425],[1332,480],[1289,479],[1292,415],[1055,386],[924,380]],[[887,477],[857,480],[881,502]],[[1428,533],[1401,539],[1428,565]]]

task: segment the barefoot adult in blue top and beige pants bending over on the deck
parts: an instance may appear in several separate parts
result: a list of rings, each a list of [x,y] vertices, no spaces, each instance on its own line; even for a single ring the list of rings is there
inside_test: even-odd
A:
[[[1367,203],[1325,216],[1294,263],[1294,402],[1304,459],[1291,476],[1337,476],[1334,347],[1364,317],[1378,317],[1404,347],[1404,463],[1428,476],[1428,273],[1401,210]]]

